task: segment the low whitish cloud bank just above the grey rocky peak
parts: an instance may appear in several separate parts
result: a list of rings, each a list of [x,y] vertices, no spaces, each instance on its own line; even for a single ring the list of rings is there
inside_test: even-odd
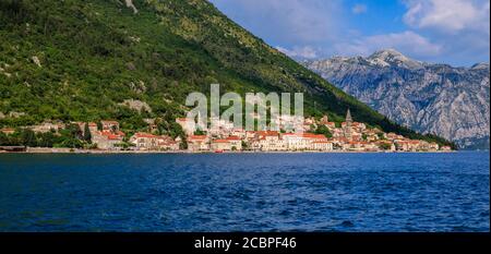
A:
[[[428,38],[412,31],[360,37],[351,43],[335,45],[337,52],[349,56],[368,56],[376,50],[386,48],[395,48],[415,58],[438,56],[442,51],[440,45],[431,43]]]

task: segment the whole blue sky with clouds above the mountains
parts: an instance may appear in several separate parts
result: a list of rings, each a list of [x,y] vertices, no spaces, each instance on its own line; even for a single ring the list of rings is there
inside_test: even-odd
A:
[[[209,0],[271,46],[299,59],[370,56],[490,61],[490,0]]]

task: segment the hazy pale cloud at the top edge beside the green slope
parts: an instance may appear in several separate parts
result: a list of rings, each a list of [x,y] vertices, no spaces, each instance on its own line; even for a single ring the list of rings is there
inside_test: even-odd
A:
[[[233,10],[236,21],[273,45],[311,45],[335,39],[344,29],[343,0],[212,0]],[[236,10],[240,10],[237,12]]]

